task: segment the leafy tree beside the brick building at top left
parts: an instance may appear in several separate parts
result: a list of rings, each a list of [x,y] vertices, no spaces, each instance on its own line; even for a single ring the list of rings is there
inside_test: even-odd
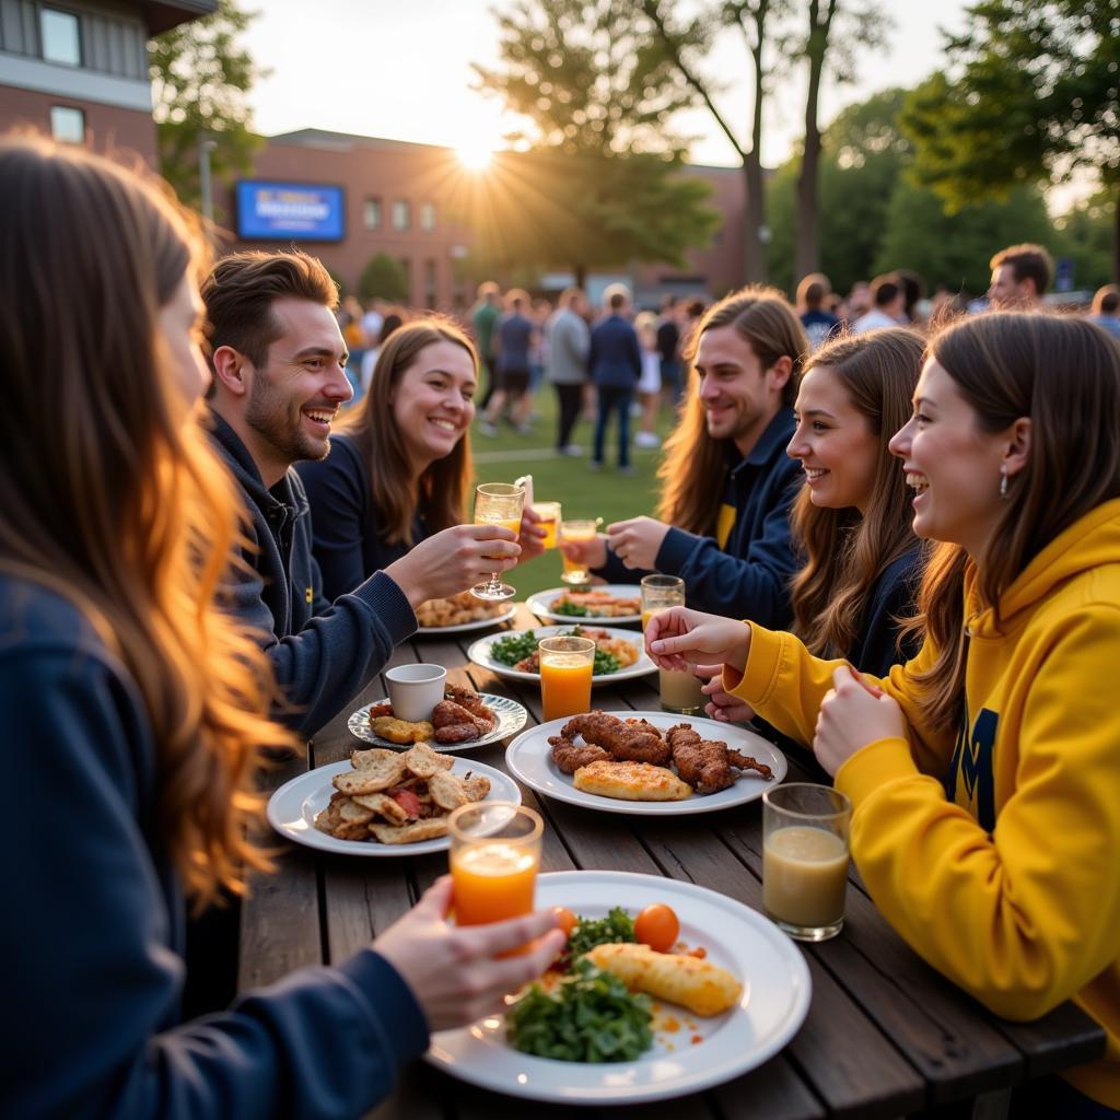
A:
[[[214,141],[211,168],[216,178],[249,170],[263,142],[252,132],[245,95],[268,72],[236,41],[256,16],[241,11],[234,0],[218,0],[213,15],[148,45],[160,174],[196,208],[202,202],[202,141]]]

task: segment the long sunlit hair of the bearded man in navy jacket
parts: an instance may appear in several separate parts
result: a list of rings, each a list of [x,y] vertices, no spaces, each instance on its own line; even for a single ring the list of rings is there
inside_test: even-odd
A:
[[[708,421],[700,403],[700,379],[693,362],[706,330],[732,326],[754,351],[764,370],[780,357],[793,361],[790,380],[782,390],[782,403],[797,396],[801,363],[809,353],[809,339],[801,320],[777,288],[753,286],[732,292],[704,312],[688,343],[689,383],[681,402],[680,420],[665,440],[665,455],[657,468],[661,501],[657,520],[701,536],[716,534],[719,507],[724,502],[720,484],[727,470],[728,440],[708,435]]]

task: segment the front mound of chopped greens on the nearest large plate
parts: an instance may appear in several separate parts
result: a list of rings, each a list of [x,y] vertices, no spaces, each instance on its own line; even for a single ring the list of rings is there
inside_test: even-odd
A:
[[[506,1037],[515,1049],[560,1062],[632,1062],[653,1045],[651,1018],[648,996],[577,961],[556,990],[534,983],[508,1009]]]

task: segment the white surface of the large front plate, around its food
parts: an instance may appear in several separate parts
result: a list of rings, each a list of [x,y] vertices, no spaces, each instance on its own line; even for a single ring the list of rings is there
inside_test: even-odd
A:
[[[591,1065],[522,1054],[505,1040],[500,1015],[433,1035],[427,1060],[513,1096],[633,1104],[700,1092],[773,1057],[804,1021],[812,982],[801,951],[768,918],[713,890],[653,875],[559,871],[536,880],[538,906],[567,906],[586,917],[603,917],[618,905],[636,914],[651,903],[669,903],[681,939],[703,945],[708,960],[743,982],[737,1007],[702,1019],[669,1005],[680,1029],[657,1030],[653,1047],[635,1062]],[[693,1035],[702,1040],[692,1043]]]

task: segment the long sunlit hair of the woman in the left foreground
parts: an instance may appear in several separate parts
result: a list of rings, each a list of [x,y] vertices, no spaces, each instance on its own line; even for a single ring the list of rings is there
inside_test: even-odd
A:
[[[156,744],[158,842],[202,905],[268,866],[245,837],[253,774],[261,746],[291,739],[263,715],[263,654],[215,604],[241,503],[184,419],[159,333],[195,243],[136,175],[41,138],[0,141],[0,569],[74,603],[131,674]]]

